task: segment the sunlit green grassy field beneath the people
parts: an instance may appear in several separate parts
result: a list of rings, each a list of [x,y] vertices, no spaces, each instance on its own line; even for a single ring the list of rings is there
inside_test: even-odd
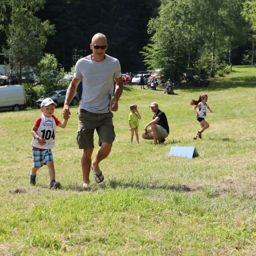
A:
[[[0,255],[256,255],[255,86],[256,68],[247,66],[208,88],[182,84],[175,95],[125,87],[112,153],[101,163],[105,180],[91,175],[89,191],[76,145],[78,106],[57,129],[58,190],[48,188],[46,166],[29,184],[30,130],[40,111],[0,113]],[[200,125],[189,101],[201,93],[214,114],[194,141]],[[142,134],[153,101],[167,115],[169,136],[163,145],[131,144],[129,106],[141,107]],[[169,156],[172,146],[195,146],[199,157]]]

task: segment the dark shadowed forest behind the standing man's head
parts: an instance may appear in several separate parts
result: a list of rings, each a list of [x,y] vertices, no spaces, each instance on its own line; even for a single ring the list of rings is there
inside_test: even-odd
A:
[[[156,16],[159,5],[158,0],[47,0],[37,16],[55,24],[56,33],[48,38],[45,51],[69,70],[77,59],[91,53],[92,36],[101,32],[108,39],[108,54],[119,59],[123,70],[144,70],[139,52],[150,39],[148,20]]]

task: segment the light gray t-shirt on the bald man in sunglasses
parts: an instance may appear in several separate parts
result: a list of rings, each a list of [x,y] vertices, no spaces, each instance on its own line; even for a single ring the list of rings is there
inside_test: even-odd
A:
[[[120,78],[118,59],[105,54],[103,61],[93,61],[91,55],[76,62],[74,77],[82,79],[80,109],[92,113],[108,113],[114,90],[114,78]]]

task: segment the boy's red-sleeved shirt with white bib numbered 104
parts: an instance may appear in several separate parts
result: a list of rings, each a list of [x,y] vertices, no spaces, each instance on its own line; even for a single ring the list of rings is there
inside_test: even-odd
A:
[[[60,123],[60,120],[54,115],[51,117],[46,117],[44,114],[39,116],[34,125],[38,127],[37,134],[39,137],[46,140],[45,145],[40,145],[39,142],[33,137],[31,145],[34,148],[40,148],[42,150],[49,150],[55,146],[55,137],[56,137],[56,127]]]

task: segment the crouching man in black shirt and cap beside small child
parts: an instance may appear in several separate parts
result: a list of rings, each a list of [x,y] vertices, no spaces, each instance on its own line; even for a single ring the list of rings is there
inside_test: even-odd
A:
[[[154,112],[153,120],[147,123],[144,127],[142,138],[146,140],[154,140],[151,144],[163,144],[165,138],[169,135],[169,125],[164,112],[158,109],[158,103],[153,102],[150,105],[152,112]],[[147,129],[151,126],[150,129]]]

